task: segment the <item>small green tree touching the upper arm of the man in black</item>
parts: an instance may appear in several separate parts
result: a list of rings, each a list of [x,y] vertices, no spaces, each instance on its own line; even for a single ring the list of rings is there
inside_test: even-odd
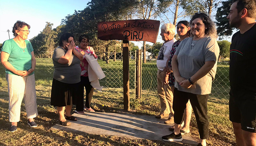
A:
[[[221,61],[221,59],[225,59],[229,57],[229,50],[230,50],[231,43],[228,42],[227,40],[222,40],[217,42],[220,47],[220,56],[218,60]]]

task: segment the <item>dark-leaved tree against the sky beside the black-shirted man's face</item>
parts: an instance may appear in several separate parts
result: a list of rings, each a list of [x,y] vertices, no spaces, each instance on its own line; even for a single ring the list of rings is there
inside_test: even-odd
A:
[[[216,25],[217,33],[220,36],[219,39],[223,39],[224,36],[231,36],[233,33],[233,29],[229,26],[229,20],[227,19],[232,2],[233,0],[223,1],[217,10]]]

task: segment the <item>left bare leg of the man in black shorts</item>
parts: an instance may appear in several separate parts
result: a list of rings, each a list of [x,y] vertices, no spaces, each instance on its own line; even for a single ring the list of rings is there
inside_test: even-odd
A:
[[[237,146],[246,146],[242,135],[241,123],[232,122]]]

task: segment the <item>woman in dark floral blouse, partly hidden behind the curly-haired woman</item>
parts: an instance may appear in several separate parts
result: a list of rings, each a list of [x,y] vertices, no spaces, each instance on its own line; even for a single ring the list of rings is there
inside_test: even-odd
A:
[[[170,55],[170,59],[167,60],[166,62],[166,69],[164,69],[166,71],[167,74],[169,74],[169,78],[165,79],[164,83],[168,84],[170,86],[174,86],[174,82],[175,82],[175,78],[174,75],[172,73],[172,57],[176,51],[176,49],[178,48],[178,46],[180,45],[180,42],[185,39],[190,37],[190,27],[189,27],[189,22],[188,21],[180,21],[177,24],[177,34],[179,35],[180,39],[177,40],[173,45],[172,45],[172,50],[171,50],[171,55]],[[186,112],[185,112],[185,117],[184,118],[184,126],[183,128],[180,130],[180,133],[182,135],[184,134],[189,134],[190,130],[189,130],[189,124],[190,124],[190,119],[191,119],[191,113],[192,113],[192,107],[190,102],[188,101],[187,105],[186,105]],[[174,127],[170,127],[169,130],[173,131]]]

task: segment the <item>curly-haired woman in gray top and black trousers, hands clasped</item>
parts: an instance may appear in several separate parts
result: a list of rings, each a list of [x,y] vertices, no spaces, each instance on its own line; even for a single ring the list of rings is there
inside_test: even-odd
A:
[[[180,42],[172,58],[175,77],[174,131],[170,135],[163,136],[162,139],[182,141],[180,124],[184,118],[186,103],[190,100],[200,135],[197,146],[206,146],[206,139],[209,136],[207,100],[216,74],[220,48],[216,41],[215,24],[207,14],[196,13],[191,18],[190,25],[192,37]]]

